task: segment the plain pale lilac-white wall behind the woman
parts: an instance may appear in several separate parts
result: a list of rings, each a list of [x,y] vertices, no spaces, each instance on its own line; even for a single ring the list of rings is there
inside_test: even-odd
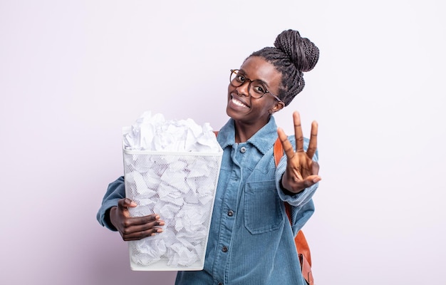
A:
[[[446,284],[442,1],[0,0],[0,284],[173,284],[96,222],[145,110],[226,121],[229,69],[293,28],[321,50],[276,115],[319,123],[318,285]]]

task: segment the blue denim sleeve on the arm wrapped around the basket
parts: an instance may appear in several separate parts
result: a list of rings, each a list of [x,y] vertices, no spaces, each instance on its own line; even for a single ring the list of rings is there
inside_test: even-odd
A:
[[[116,231],[113,224],[110,223],[110,219],[105,214],[108,213],[108,209],[111,207],[118,206],[118,200],[123,198],[125,198],[125,185],[124,177],[121,176],[108,185],[107,192],[105,192],[102,200],[102,205],[99,208],[98,214],[96,214],[96,219],[98,219],[99,224],[112,231]]]

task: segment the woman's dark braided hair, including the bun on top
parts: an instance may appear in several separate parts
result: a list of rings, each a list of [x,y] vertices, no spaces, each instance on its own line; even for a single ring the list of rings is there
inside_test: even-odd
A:
[[[304,72],[316,66],[319,49],[308,38],[302,38],[299,31],[290,29],[276,37],[274,47],[262,48],[251,56],[265,58],[282,74],[278,97],[287,106],[304,89]]]

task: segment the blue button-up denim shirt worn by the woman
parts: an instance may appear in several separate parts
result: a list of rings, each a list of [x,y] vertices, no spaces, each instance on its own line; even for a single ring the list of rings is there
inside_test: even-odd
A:
[[[281,190],[286,156],[274,163],[277,126],[271,117],[247,142],[235,142],[229,119],[217,140],[223,149],[206,258],[202,271],[179,271],[175,284],[274,285],[306,284],[301,275],[294,236],[313,214],[311,197],[318,185],[296,195]],[[295,147],[294,135],[289,137]],[[304,140],[304,148],[308,140]],[[313,157],[317,161],[318,153]],[[123,177],[110,183],[98,221],[115,230],[105,211],[124,197]],[[292,225],[284,201],[291,204]]]

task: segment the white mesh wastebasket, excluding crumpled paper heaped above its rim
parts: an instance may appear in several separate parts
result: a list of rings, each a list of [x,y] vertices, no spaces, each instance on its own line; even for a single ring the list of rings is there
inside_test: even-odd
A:
[[[166,223],[128,242],[132,270],[203,269],[222,153],[123,149],[125,195],[138,204],[130,216],[156,213]]]

